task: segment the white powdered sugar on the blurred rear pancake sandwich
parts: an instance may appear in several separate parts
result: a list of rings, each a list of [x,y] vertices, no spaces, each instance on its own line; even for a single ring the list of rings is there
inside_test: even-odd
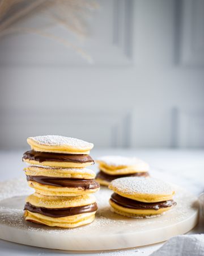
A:
[[[135,164],[143,164],[141,159],[132,157],[128,158],[119,155],[107,155],[97,158],[97,161],[107,164],[107,166],[134,166]]]

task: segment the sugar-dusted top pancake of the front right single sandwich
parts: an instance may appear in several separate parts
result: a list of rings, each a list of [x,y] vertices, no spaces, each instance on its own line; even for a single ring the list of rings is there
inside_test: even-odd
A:
[[[175,193],[171,185],[151,177],[122,177],[113,180],[109,188],[120,196],[146,203],[171,200]]]

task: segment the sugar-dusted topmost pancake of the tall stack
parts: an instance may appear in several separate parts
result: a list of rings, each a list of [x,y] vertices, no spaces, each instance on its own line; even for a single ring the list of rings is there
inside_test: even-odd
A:
[[[94,144],[81,139],[58,135],[29,137],[27,142],[35,151],[64,154],[89,154],[94,147]]]

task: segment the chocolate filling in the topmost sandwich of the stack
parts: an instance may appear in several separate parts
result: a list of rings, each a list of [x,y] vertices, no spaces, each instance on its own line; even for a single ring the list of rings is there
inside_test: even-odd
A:
[[[90,163],[94,160],[90,155],[74,155],[74,154],[61,154],[61,153],[48,153],[37,152],[29,150],[24,152],[23,159],[35,160],[37,162],[74,162],[74,163]]]

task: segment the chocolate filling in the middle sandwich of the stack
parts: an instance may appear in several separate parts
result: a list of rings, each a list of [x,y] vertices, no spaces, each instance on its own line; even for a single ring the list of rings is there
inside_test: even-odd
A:
[[[27,175],[27,180],[36,181],[40,184],[52,185],[55,187],[70,187],[70,188],[82,188],[86,189],[95,189],[99,188],[99,183],[92,180],[82,180],[82,179],[70,179],[63,177],[46,177],[46,176],[29,176]]]

